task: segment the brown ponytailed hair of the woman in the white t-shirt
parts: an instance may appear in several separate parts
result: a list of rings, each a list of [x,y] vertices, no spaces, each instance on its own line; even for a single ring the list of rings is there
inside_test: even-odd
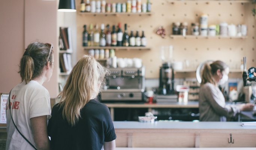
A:
[[[53,63],[53,50],[50,52],[48,43],[33,42],[28,45],[19,64],[19,74],[21,81],[25,80],[26,84],[33,78],[38,77],[43,72],[43,67],[50,61]],[[49,60],[47,58],[49,56]]]

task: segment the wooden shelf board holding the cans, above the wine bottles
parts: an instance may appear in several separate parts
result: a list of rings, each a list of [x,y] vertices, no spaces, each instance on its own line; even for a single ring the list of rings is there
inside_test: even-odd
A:
[[[133,13],[133,12],[105,12],[105,13],[103,13],[103,12],[99,12],[99,13],[97,13],[97,12],[95,12],[95,13],[93,13],[93,12],[79,12],[79,14],[80,15],[94,15],[94,16],[96,16],[96,15],[105,15],[105,16],[107,16],[107,15],[115,15],[115,16],[120,16],[120,15],[128,15],[128,16],[130,16],[130,15],[139,15],[139,16],[141,16],[141,15],[152,15],[153,13],[152,12],[135,12],[135,13]]]

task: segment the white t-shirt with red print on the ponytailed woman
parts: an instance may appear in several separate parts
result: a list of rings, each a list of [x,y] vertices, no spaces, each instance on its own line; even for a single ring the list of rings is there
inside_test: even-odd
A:
[[[51,118],[51,104],[48,90],[38,82],[31,80],[16,85],[10,94],[6,104],[7,141],[6,150],[34,150],[32,146],[19,134],[13,125],[12,118],[19,131],[32,143],[34,143],[30,119],[45,116]],[[12,118],[10,116],[12,112]]]

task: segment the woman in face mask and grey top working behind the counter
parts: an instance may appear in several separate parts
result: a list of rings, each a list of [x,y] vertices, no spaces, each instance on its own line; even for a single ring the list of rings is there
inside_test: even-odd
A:
[[[206,63],[202,71],[199,91],[200,121],[232,120],[240,111],[251,111],[254,105],[226,105],[225,98],[218,85],[228,81],[229,67],[222,61]]]

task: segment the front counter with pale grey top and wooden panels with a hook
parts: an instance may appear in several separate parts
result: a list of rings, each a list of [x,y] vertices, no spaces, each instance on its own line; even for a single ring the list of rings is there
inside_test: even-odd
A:
[[[241,122],[114,122],[116,147],[256,147]]]

